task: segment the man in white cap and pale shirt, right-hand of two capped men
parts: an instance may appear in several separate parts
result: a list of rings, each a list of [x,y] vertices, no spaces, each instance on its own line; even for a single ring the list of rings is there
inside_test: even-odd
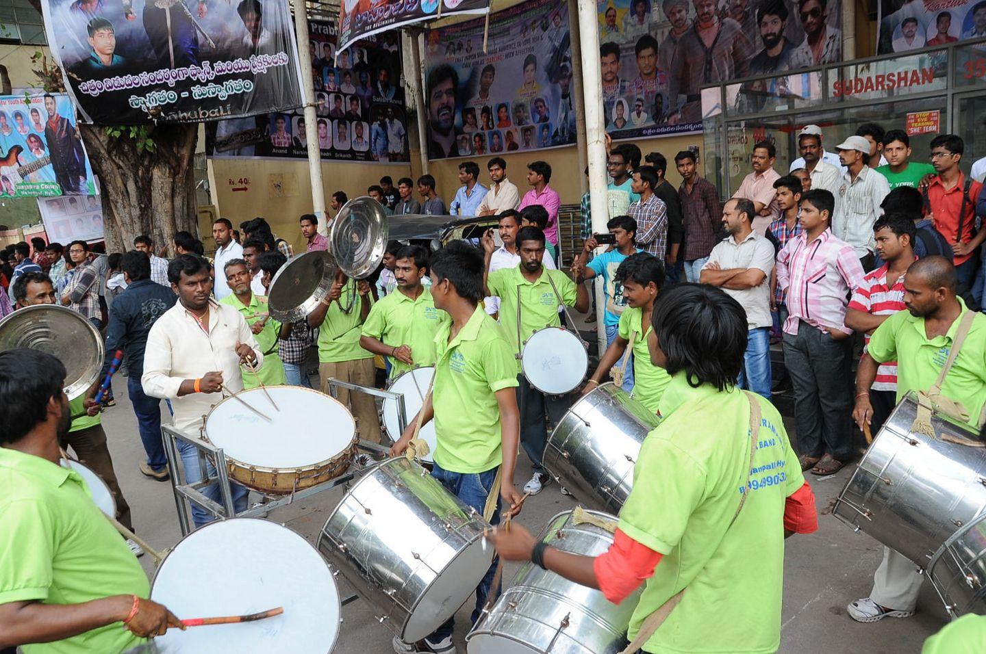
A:
[[[850,136],[836,150],[846,166],[839,192],[835,195],[832,231],[853,247],[863,270],[875,268],[873,226],[880,217],[880,204],[890,192],[886,177],[871,168],[870,142],[862,136]]]

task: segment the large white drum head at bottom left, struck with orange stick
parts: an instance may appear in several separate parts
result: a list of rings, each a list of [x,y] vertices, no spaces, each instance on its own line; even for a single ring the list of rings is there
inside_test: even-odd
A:
[[[304,538],[267,520],[231,518],[183,538],[154,575],[151,599],[180,619],[284,608],[255,622],[169,629],[154,639],[162,652],[325,654],[339,634],[328,565]]]

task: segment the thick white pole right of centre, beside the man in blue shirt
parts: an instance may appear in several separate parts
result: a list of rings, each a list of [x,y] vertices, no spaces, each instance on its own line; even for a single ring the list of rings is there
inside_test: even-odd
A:
[[[571,1],[571,0],[570,0]],[[602,82],[599,77],[599,16],[596,0],[578,0],[579,33],[582,46],[582,90],[586,102],[586,152],[589,157],[589,204],[593,212],[593,231],[606,233],[609,208],[606,206],[606,145],[602,116]],[[601,254],[604,248],[599,248]],[[596,294],[596,319],[605,324],[606,303]],[[599,329],[599,357],[606,350],[606,331]]]

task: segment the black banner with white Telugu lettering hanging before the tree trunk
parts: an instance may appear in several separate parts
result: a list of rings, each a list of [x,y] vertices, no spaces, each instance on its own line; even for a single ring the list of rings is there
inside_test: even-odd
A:
[[[300,106],[287,0],[41,0],[86,122],[199,122]]]

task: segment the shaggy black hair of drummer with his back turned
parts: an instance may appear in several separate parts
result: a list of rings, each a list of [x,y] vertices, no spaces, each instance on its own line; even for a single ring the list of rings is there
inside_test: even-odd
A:
[[[676,284],[658,295],[651,314],[669,374],[685,371],[694,388],[734,386],[746,351],[746,311],[736,299],[705,284]]]

